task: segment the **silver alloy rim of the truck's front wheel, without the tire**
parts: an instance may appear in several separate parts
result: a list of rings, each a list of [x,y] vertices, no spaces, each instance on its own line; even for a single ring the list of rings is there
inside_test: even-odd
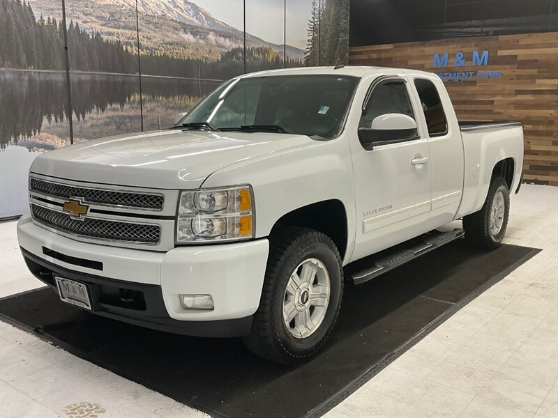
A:
[[[312,335],[326,316],[329,272],[322,261],[307,258],[292,272],[283,298],[283,321],[298,339]]]

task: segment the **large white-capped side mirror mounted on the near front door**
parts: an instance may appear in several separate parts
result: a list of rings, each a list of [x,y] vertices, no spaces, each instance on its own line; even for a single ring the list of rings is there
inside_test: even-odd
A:
[[[411,141],[418,137],[416,121],[404,114],[384,114],[374,118],[370,127],[359,127],[359,139],[365,150],[374,146]]]

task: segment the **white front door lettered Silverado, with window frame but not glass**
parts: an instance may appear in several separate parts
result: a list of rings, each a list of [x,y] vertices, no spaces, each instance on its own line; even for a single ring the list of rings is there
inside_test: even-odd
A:
[[[418,125],[418,111],[407,79],[377,77],[362,104],[359,127],[384,114],[405,114]],[[352,135],[356,197],[356,242],[353,260],[396,245],[429,230],[432,171],[428,141],[421,134],[366,150],[357,130]],[[370,146],[367,148],[370,149]]]

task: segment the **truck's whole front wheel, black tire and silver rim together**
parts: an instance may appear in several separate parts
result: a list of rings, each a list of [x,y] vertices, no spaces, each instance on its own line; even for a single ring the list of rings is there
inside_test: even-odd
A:
[[[262,299],[246,346],[282,364],[317,353],[335,325],[343,279],[337,247],[311,229],[285,228],[270,240]]]

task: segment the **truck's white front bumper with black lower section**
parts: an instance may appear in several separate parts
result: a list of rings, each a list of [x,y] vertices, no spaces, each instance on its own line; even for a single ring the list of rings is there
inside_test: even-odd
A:
[[[269,251],[266,239],[167,252],[110,247],[47,231],[29,215],[20,219],[17,237],[38,279],[56,287],[56,274],[88,285],[95,314],[197,336],[249,332]],[[120,289],[137,297],[121,302]],[[211,295],[215,309],[184,309],[180,294]]]

